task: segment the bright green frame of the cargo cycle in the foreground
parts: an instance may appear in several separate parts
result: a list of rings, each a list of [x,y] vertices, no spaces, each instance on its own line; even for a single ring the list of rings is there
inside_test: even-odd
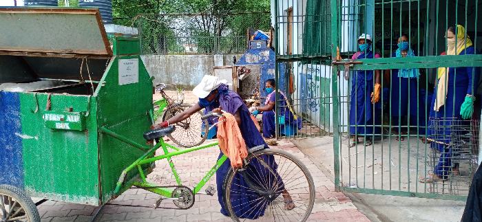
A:
[[[172,173],[174,174],[174,177],[176,178],[176,183],[178,184],[178,186],[181,186],[182,182],[180,180],[180,177],[177,173],[176,168],[174,167],[174,163],[171,161],[171,157],[182,155],[182,154],[185,154],[185,153],[191,153],[193,151],[199,151],[199,150],[202,150],[202,149],[205,149],[205,148],[209,148],[209,147],[213,147],[213,146],[218,145],[218,142],[213,142],[211,144],[205,144],[205,145],[196,146],[196,147],[193,147],[193,148],[187,148],[187,149],[180,150],[176,146],[171,146],[169,144],[166,144],[165,141],[163,140],[163,138],[159,138],[159,142],[156,143],[155,146],[149,147],[149,146],[140,145],[140,144],[138,144],[138,143],[136,143],[132,140],[127,139],[126,137],[123,137],[121,135],[118,135],[117,133],[114,133],[113,131],[110,131],[109,129],[107,129],[105,127],[101,127],[101,131],[103,133],[111,136],[111,137],[116,138],[117,140],[121,140],[122,142],[125,142],[126,144],[134,146],[135,148],[138,148],[141,151],[145,151],[144,155],[139,157],[133,164],[127,166],[127,168],[125,168],[122,171],[121,176],[119,177],[119,179],[117,181],[116,189],[114,190],[113,198],[118,197],[119,195],[121,195],[122,192],[129,189],[131,186],[138,186],[140,188],[143,188],[143,189],[148,190],[150,192],[154,192],[154,193],[156,193],[158,195],[161,195],[163,197],[171,197],[174,189],[172,189],[172,188],[159,188],[158,185],[151,184],[151,183],[147,182],[146,175],[145,175],[144,170],[141,166],[143,166],[145,164],[151,164],[151,163],[156,162],[160,159],[167,159],[167,161],[169,162],[169,166],[172,170]],[[164,155],[158,155],[158,156],[152,157],[152,155],[154,155],[154,153],[156,153],[158,148],[161,148],[161,147],[163,148]],[[169,151],[167,151],[167,148],[172,148],[175,151],[169,153]],[[194,195],[196,195],[202,189],[202,187],[205,186],[207,181],[209,181],[209,179],[211,179],[211,177],[214,175],[214,173],[216,173],[218,168],[220,168],[220,166],[226,161],[226,159],[227,159],[226,155],[223,155],[220,159],[218,159],[218,162],[216,162],[216,165],[214,165],[211,168],[211,170],[209,170],[209,172],[205,175],[205,177],[203,177],[201,179],[201,181],[196,185],[196,187],[193,190]],[[134,179],[131,179],[130,181],[125,182],[125,177],[127,176],[127,173],[129,173],[131,170],[138,170],[140,178],[134,177]]]

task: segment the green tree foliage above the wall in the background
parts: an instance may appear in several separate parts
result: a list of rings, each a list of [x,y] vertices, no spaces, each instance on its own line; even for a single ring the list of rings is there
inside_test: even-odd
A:
[[[114,23],[138,27],[141,53],[154,54],[184,52],[189,45],[198,53],[236,51],[246,44],[238,36],[248,28],[269,30],[269,13],[247,12],[269,8],[269,0],[112,0]]]

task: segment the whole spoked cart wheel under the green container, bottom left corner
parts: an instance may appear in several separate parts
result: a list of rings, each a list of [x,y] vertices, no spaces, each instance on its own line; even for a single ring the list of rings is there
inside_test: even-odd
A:
[[[23,190],[0,185],[0,221],[40,221],[35,203]]]

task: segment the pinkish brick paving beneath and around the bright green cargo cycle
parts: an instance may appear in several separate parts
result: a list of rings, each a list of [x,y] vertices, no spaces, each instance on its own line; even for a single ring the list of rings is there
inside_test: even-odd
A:
[[[305,156],[290,141],[280,141],[278,146],[284,151],[293,153],[302,159],[310,170],[316,187],[315,206],[310,221],[369,221],[362,212],[351,203],[351,200],[342,192],[335,192],[335,187],[307,156]],[[182,155],[173,159],[176,169],[185,186],[194,186],[202,176],[216,162],[218,148],[207,148]],[[162,185],[174,185],[174,179],[167,169],[167,162],[156,162],[154,172],[149,175],[149,181]],[[207,185],[215,186],[215,177]],[[145,190],[131,189],[111,203],[152,206],[158,195]],[[163,206],[174,207],[171,201],[163,201]],[[39,206],[42,221],[90,221],[96,207],[80,204],[47,201]],[[197,195],[196,203],[188,210],[166,210],[153,208],[134,208],[127,206],[105,206],[100,216],[100,221],[231,221],[220,212],[220,205],[216,195]]]

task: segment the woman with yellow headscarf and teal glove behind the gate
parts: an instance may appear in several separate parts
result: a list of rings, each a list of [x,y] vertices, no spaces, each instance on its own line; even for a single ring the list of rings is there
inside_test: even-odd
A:
[[[447,55],[475,54],[472,41],[465,36],[465,28],[462,25],[457,25],[457,32],[454,27],[449,27],[446,38]],[[467,124],[461,120],[472,118],[475,101],[473,95],[476,91],[475,84],[479,82],[479,75],[476,67],[440,67],[438,69],[437,84],[432,98],[432,107],[430,107],[428,140],[431,142],[430,147],[440,152],[440,159],[434,166],[433,173],[429,174],[428,178],[421,178],[421,182],[445,180],[450,173],[459,173],[457,164],[452,166],[452,147],[449,145],[452,135],[461,132],[452,131],[452,128]]]

